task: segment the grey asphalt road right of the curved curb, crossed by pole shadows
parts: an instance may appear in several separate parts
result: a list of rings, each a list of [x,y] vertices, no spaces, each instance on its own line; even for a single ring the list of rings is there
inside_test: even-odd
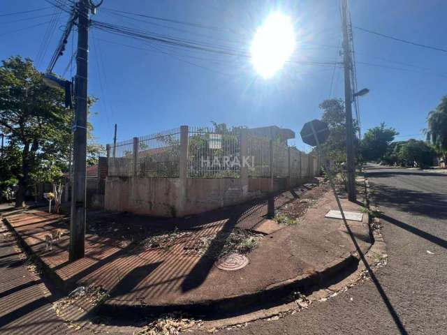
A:
[[[219,334],[447,334],[447,175],[367,174],[388,253],[377,285],[367,281],[306,311]]]

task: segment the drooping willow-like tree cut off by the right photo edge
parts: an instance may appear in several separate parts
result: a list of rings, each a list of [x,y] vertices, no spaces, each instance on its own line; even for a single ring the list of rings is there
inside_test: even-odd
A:
[[[428,113],[427,117],[427,140],[434,144],[437,151],[447,161],[447,96],[441,99],[441,103]]]

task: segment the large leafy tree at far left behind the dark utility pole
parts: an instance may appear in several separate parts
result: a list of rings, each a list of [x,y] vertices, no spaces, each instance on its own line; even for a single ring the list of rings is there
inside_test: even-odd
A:
[[[90,104],[94,101],[89,99]],[[0,131],[20,150],[20,171],[15,172],[17,207],[24,205],[34,180],[53,179],[67,170],[72,123],[64,91],[47,87],[31,59],[17,56],[2,61]]]

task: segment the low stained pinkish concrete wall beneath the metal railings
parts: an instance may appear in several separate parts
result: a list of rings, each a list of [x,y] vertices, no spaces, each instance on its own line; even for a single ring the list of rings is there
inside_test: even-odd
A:
[[[154,216],[185,216],[240,204],[271,191],[297,186],[308,178],[249,178],[248,188],[240,178],[188,178],[184,201],[179,202],[179,178],[108,177],[104,207]]]

